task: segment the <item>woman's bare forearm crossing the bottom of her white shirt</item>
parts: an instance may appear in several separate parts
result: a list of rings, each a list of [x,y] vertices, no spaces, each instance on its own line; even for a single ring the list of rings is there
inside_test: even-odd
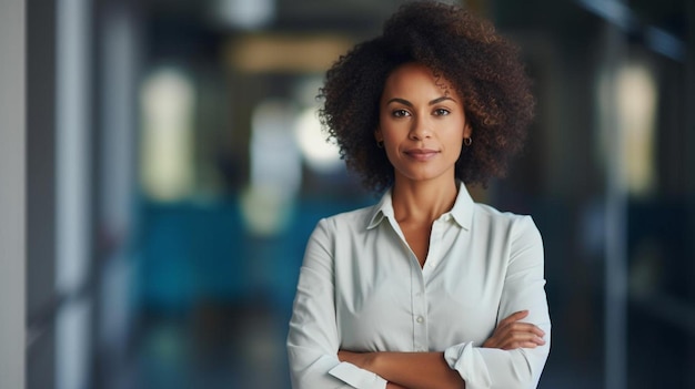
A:
[[[340,357],[409,389],[465,388],[443,352],[341,352]]]

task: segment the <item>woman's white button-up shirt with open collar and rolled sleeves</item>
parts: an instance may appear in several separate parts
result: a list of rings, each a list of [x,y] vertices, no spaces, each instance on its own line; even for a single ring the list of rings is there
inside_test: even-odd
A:
[[[309,239],[288,351],[295,389],[384,388],[380,376],[340,362],[338,351],[443,351],[467,389],[535,388],[550,351],[543,243],[528,216],[474,203],[461,185],[432,225],[424,267],[395,219],[391,193],[321,219]],[[535,349],[482,348],[496,324],[545,331]]]

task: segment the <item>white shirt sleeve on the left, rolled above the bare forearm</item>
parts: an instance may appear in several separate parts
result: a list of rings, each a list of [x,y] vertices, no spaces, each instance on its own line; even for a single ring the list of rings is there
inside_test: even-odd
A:
[[[319,222],[300,270],[288,334],[292,388],[384,389],[386,381],[382,377],[338,359],[331,234],[328,221]]]

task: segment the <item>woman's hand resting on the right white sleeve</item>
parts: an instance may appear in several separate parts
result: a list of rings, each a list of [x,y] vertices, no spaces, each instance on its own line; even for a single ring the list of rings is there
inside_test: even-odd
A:
[[[483,347],[512,350],[516,348],[536,348],[545,345],[545,332],[535,325],[518,320],[528,316],[528,310],[520,310],[500,321],[490,339]]]

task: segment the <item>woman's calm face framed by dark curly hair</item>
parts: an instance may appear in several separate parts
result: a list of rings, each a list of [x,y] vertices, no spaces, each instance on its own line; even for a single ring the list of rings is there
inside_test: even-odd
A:
[[[471,129],[452,85],[424,65],[406,63],[386,79],[374,136],[384,144],[396,183],[454,180]]]

